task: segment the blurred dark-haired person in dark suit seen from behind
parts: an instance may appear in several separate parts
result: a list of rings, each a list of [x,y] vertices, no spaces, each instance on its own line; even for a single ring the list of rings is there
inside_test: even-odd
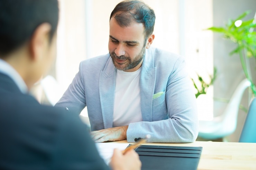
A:
[[[0,169],[140,169],[133,150],[105,164],[77,115],[28,94],[56,55],[57,23],[57,0],[0,1]]]

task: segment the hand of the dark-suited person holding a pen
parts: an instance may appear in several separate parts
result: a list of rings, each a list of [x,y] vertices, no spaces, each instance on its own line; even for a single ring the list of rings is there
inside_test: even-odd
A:
[[[127,151],[125,155],[123,155],[119,149],[115,149],[109,165],[113,170],[141,169],[139,156],[133,149]]]

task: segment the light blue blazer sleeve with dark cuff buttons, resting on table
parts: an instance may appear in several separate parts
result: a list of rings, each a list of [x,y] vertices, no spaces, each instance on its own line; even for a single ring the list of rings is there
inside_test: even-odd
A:
[[[162,114],[166,115],[166,119],[130,123],[127,129],[128,142],[135,142],[136,138],[144,138],[147,134],[151,135],[148,142],[168,143],[193,142],[198,136],[195,95],[182,57],[176,60],[165,79],[167,81],[162,82],[167,83],[161,85],[165,89],[165,102],[161,103],[165,109],[157,109],[158,113],[153,112],[153,116]]]

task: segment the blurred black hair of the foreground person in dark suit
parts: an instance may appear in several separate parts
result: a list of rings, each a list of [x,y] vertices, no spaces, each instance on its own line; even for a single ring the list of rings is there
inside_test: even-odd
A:
[[[51,24],[49,41],[58,24],[57,0],[0,0],[0,56],[30,40],[36,28]]]

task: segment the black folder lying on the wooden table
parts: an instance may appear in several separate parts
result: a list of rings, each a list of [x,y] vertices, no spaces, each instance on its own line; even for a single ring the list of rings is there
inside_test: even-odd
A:
[[[202,147],[141,145],[135,151],[141,170],[196,170]]]

